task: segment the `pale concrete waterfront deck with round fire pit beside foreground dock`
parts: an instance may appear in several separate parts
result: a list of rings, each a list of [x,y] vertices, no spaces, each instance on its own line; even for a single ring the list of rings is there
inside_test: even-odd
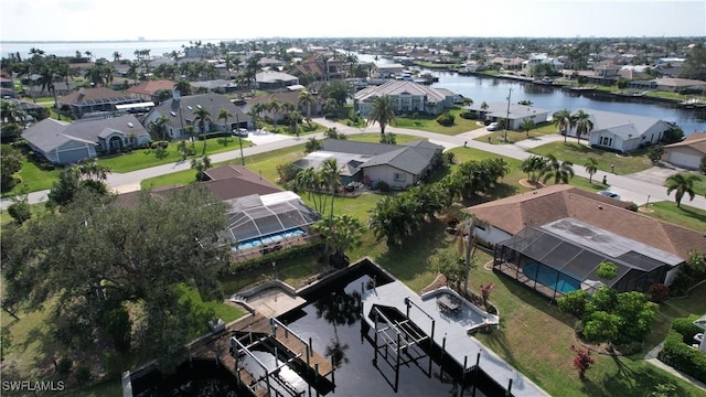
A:
[[[435,320],[434,342],[441,346],[446,339],[446,352],[452,356],[461,366],[468,361],[469,367],[475,364],[478,353],[481,354],[479,366],[493,378],[499,385],[507,388],[510,379],[512,379],[513,396],[549,396],[539,386],[534,384],[527,377],[517,372],[514,367],[503,361],[500,356],[485,347],[479,340],[469,336],[469,329],[479,325],[479,321],[483,321],[482,311],[477,309],[470,302],[462,301],[461,311],[459,313],[446,314],[437,307],[439,294],[450,293],[456,297],[456,292],[442,288],[427,292],[419,297],[407,286],[399,281],[376,287],[372,290],[363,290],[363,315],[371,326],[375,326],[368,318],[374,304],[397,308],[402,313],[407,312],[405,298],[409,299],[414,304],[421,308],[424,312],[411,305],[409,319],[415,322],[421,330],[430,333],[431,319]],[[460,297],[458,297],[460,299]],[[425,314],[426,312],[426,314]],[[483,320],[481,320],[483,319]],[[485,313],[488,323],[498,323],[498,318]],[[482,323],[481,323],[482,324]]]

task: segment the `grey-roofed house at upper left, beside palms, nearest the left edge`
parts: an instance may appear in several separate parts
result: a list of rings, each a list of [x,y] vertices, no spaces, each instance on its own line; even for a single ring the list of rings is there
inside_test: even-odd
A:
[[[132,115],[74,122],[47,118],[25,129],[22,138],[55,164],[76,163],[150,142],[150,135]]]

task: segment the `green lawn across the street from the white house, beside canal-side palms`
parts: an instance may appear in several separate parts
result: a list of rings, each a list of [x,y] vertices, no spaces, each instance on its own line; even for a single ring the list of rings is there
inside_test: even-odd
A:
[[[574,167],[584,167],[586,159],[591,157],[598,161],[598,170],[611,172],[611,164],[614,164],[614,172],[619,175],[644,171],[652,167],[652,163],[644,151],[638,151],[632,155],[624,157],[618,153],[589,148],[569,140],[565,142],[550,142],[530,150],[534,154],[554,154],[559,160],[568,160]]]

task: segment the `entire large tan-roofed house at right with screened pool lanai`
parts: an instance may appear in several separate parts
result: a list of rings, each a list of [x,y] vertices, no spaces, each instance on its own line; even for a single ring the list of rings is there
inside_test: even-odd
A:
[[[670,285],[703,233],[627,210],[628,203],[557,184],[474,205],[473,236],[494,249],[493,268],[556,299],[599,285],[648,291]],[[600,264],[618,266],[611,280]]]

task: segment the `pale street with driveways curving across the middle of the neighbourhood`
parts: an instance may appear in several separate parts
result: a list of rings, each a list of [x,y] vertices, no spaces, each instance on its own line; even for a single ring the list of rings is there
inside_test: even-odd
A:
[[[345,135],[379,133],[379,127],[376,125],[360,128],[349,127],[343,124],[327,120],[324,118],[317,118],[313,119],[313,121],[327,128],[335,127],[339,132],[343,132]],[[506,155],[518,160],[524,160],[531,157],[532,153],[527,152],[527,150],[531,148],[564,139],[564,137],[558,135],[549,135],[535,139],[523,140],[514,144],[491,144],[488,142],[474,140],[474,138],[490,133],[485,128],[479,128],[473,131],[468,131],[456,136],[447,136],[442,133],[419,131],[393,126],[388,126],[386,128],[386,131],[426,138],[434,143],[443,146],[447,150],[463,147],[466,144],[469,148],[496,153],[499,155]],[[324,138],[323,132],[307,135],[300,138],[280,136],[275,133],[252,132],[252,138],[249,139],[253,139],[254,142],[257,142],[259,140],[260,143],[250,148],[244,148],[243,155],[248,157],[281,148],[301,144],[306,142],[307,139],[310,139],[312,137],[317,139]],[[240,159],[239,149],[211,155],[211,161],[213,163],[236,159]],[[189,170],[190,168],[191,164],[189,161],[179,161],[175,163],[152,167],[133,172],[110,173],[108,175],[107,184],[108,187],[114,189],[118,192],[129,192],[139,190],[140,182],[142,180],[172,172]],[[611,191],[620,194],[623,201],[634,202],[638,205],[642,205],[648,202],[654,203],[656,201],[674,201],[674,194],[672,193],[667,195],[666,189],[662,185],[662,183],[664,183],[664,179],[666,176],[680,171],[682,170],[668,167],[655,167],[650,170],[639,172],[634,175],[617,175],[606,172],[599,172],[593,175],[593,179],[598,182],[602,180],[603,175],[606,175],[608,178],[608,184],[610,185]],[[578,176],[588,178],[588,173],[582,165],[574,165],[574,172]],[[31,204],[44,202],[46,201],[47,193],[49,190],[30,193],[29,202]],[[2,198],[0,201],[0,207],[2,210],[6,210],[10,204],[12,204],[10,198]],[[682,201],[682,205],[706,210],[706,197],[696,196],[693,201],[689,201],[688,197],[685,197]]]

